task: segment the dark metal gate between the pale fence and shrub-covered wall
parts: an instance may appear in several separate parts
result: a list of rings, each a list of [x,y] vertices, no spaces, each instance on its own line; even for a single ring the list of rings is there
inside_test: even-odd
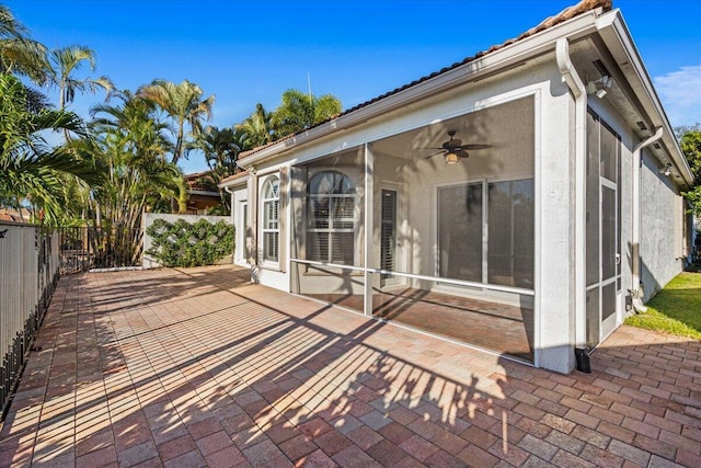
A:
[[[60,229],[60,273],[141,266],[141,229],[72,227]]]

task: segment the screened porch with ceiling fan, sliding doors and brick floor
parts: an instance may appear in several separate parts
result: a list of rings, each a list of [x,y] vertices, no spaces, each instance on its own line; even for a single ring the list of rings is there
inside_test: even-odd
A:
[[[294,164],[291,292],[532,362],[533,119],[531,95]]]

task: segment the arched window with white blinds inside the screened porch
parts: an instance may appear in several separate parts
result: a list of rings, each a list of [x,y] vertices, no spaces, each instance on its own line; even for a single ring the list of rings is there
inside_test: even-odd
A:
[[[309,180],[307,192],[307,259],[353,264],[355,258],[355,185],[337,171]]]

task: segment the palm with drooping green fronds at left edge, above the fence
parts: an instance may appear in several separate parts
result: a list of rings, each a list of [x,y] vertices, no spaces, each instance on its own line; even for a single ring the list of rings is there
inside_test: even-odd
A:
[[[90,155],[53,147],[46,132],[70,130],[85,136],[80,117],[62,110],[33,110],[26,88],[11,75],[0,75],[0,198],[16,206],[28,201],[44,209],[48,224],[66,213],[65,176],[99,183],[101,172]]]

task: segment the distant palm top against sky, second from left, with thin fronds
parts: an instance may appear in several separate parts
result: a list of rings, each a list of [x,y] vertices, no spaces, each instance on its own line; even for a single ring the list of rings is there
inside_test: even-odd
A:
[[[48,54],[49,67],[49,85],[58,88],[58,107],[66,109],[76,98],[76,92],[89,92],[94,94],[97,90],[103,89],[110,98],[114,90],[114,84],[107,77],[95,79],[84,78],[78,79],[74,73],[79,71],[83,64],[90,65],[90,70],[95,70],[95,53],[84,46],[70,46],[55,48]]]

